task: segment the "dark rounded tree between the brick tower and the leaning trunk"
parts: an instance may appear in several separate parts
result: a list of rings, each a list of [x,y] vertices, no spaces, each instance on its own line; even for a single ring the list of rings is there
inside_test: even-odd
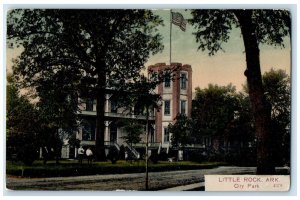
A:
[[[193,101],[193,136],[206,147],[208,160],[253,165],[256,146],[248,94],[231,84],[196,88]]]

